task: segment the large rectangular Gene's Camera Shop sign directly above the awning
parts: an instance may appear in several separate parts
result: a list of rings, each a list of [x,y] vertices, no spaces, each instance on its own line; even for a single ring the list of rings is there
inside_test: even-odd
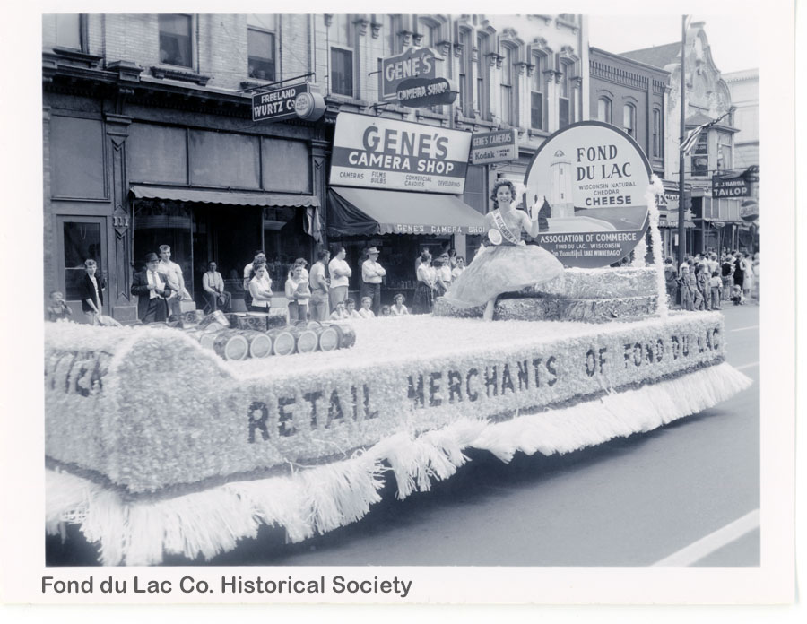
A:
[[[339,113],[330,184],[459,195],[471,133]]]

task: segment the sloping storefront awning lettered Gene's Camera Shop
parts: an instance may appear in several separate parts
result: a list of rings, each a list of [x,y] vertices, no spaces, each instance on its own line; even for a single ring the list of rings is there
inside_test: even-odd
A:
[[[333,186],[328,234],[482,234],[485,218],[455,195]]]

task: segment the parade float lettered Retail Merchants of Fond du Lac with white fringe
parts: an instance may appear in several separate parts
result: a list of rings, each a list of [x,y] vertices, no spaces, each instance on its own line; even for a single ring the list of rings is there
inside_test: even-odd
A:
[[[649,169],[635,143],[601,126],[571,126],[577,135],[564,131],[567,143],[591,142],[603,171],[618,167],[622,182],[635,183],[596,196],[644,210],[620,221],[592,208],[579,217],[586,226],[573,221],[574,207],[586,205],[580,185],[554,178],[568,185],[564,197],[575,195],[569,208],[558,188],[536,181],[545,178],[536,173],[542,154],[553,176],[567,163],[568,148],[554,140],[563,133],[551,137],[526,194],[558,205],[542,234],[555,242],[539,242],[563,246],[553,252],[569,268],[499,297],[493,322],[481,309],[438,302],[433,316],[351,321],[325,350],[264,348],[244,359],[246,339],[227,351],[224,340],[216,349],[200,338],[228,331],[224,322],[187,331],[48,324],[48,532],[79,525],[104,565],[158,564],[174,553],[212,559],[263,524],[299,542],[359,520],[388,480],[398,498],[429,490],[464,464],[467,449],[505,462],[517,452],[568,453],[664,426],[749,386],[725,362],[720,313],[667,309],[660,258],[644,266],[648,228],[659,248]],[[616,153],[596,149],[610,144]],[[603,224],[591,231],[593,219]],[[633,265],[603,267],[631,250]],[[279,328],[262,322],[241,329],[276,343]]]

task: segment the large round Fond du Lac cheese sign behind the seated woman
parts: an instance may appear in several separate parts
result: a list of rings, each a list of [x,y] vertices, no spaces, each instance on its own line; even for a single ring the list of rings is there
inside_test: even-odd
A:
[[[527,204],[546,197],[538,242],[566,266],[619,262],[645,236],[650,163],[628,134],[582,121],[552,134],[525,176]]]

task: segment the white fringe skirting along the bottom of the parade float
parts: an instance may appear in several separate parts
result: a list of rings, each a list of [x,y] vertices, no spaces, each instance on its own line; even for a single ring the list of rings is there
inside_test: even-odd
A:
[[[568,453],[661,427],[748,386],[749,377],[723,363],[570,407],[522,412],[504,422],[467,418],[414,438],[395,434],[333,464],[153,501],[126,501],[92,481],[48,470],[46,528],[53,534],[61,523],[80,524],[84,537],[100,544],[105,566],[155,565],[164,554],[212,559],[256,537],[261,524],[280,526],[289,542],[300,542],[367,514],[380,500],[387,472],[403,499],[454,474],[467,460],[465,448],[488,450],[504,462],[518,451]]]

